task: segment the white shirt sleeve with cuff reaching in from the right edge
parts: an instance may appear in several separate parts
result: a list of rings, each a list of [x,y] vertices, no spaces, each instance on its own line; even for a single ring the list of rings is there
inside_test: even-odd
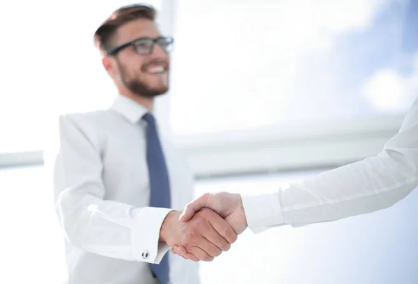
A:
[[[403,125],[376,157],[268,194],[242,195],[253,232],[275,226],[304,226],[381,210],[418,186],[418,100]]]

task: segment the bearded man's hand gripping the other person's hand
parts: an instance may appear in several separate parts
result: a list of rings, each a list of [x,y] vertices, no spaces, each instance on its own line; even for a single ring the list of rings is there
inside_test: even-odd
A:
[[[169,246],[182,246],[194,255],[194,261],[212,261],[222,251],[228,251],[238,236],[217,213],[206,208],[187,222],[179,221],[180,212],[170,212],[160,230],[160,240]]]

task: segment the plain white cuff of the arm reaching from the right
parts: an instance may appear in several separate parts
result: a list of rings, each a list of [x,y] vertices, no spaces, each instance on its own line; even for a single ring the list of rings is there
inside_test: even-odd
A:
[[[284,224],[277,193],[241,194],[248,228],[254,233]]]

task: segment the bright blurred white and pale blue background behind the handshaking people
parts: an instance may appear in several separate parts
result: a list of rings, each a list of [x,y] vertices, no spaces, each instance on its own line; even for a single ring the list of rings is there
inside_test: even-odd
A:
[[[161,0],[175,38],[164,135],[195,194],[275,189],[376,155],[418,94],[418,0]],[[0,283],[61,283],[51,157],[60,113],[116,95],[93,33],[132,1],[3,1]],[[51,151],[52,152],[52,151]],[[418,191],[393,207],[244,232],[202,283],[418,283]]]

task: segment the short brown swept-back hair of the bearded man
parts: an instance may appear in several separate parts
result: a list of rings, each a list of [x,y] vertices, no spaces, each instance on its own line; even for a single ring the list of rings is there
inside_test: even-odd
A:
[[[95,45],[102,50],[102,52],[109,52],[112,48],[114,33],[119,26],[135,19],[150,19],[151,21],[154,21],[155,14],[156,12],[153,6],[144,4],[135,4],[118,8],[118,10],[114,11],[114,13],[112,13],[111,16],[95,31]]]

